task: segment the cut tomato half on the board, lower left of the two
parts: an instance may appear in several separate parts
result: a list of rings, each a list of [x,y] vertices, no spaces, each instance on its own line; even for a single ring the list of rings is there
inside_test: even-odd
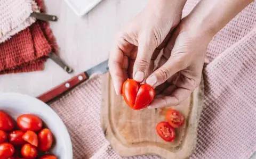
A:
[[[175,130],[165,121],[159,122],[156,126],[158,135],[167,142],[175,139]]]

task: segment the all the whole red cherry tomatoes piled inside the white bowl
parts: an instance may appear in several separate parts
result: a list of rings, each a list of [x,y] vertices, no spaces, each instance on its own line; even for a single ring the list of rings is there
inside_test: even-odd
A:
[[[53,136],[49,129],[43,128],[43,121],[38,116],[22,114],[17,125],[10,115],[0,111],[1,159],[57,159],[47,154],[52,147]]]

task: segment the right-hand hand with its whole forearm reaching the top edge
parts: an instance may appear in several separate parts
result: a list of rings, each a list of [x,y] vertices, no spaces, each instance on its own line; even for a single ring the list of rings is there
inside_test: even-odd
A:
[[[252,1],[202,0],[182,19],[164,49],[160,68],[146,80],[158,94],[148,108],[178,105],[190,95],[201,81],[212,37]]]

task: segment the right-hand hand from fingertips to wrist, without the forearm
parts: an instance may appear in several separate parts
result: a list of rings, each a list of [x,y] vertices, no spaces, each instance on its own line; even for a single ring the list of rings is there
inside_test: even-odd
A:
[[[156,96],[148,108],[178,105],[201,81],[204,55],[212,34],[183,19],[163,51],[158,69],[146,82],[156,87]]]

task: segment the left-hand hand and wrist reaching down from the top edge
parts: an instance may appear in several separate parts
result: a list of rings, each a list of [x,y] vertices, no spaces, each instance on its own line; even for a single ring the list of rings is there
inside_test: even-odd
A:
[[[179,24],[186,0],[151,0],[117,34],[109,57],[116,94],[127,78],[138,82],[153,72],[154,61]]]

